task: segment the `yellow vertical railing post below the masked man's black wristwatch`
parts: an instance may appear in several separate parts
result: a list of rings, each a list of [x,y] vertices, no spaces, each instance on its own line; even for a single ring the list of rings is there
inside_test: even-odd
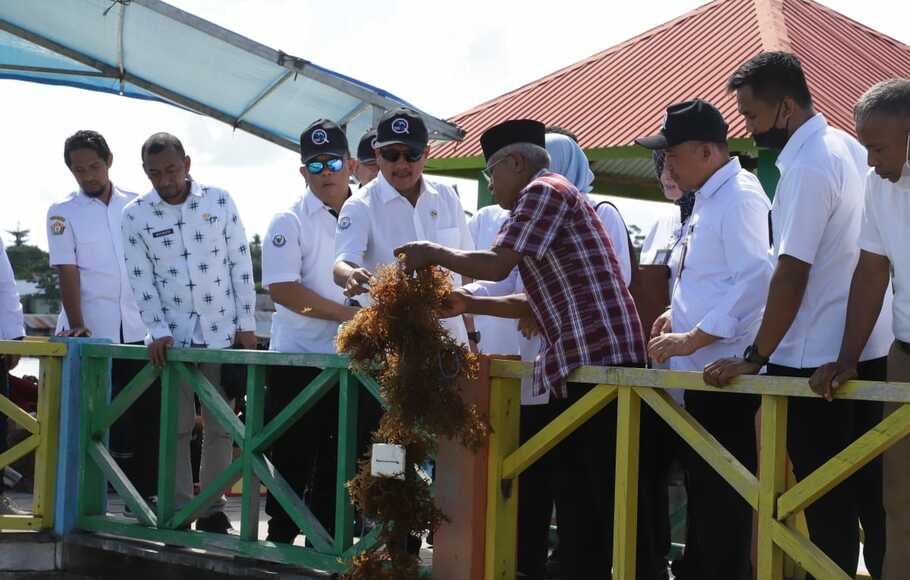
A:
[[[783,552],[774,542],[777,498],[787,486],[787,398],[762,395],[759,450],[758,538],[760,580],[783,580]]]

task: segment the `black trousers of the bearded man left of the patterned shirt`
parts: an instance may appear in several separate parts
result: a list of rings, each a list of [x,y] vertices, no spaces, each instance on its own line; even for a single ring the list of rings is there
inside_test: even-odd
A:
[[[120,394],[146,364],[145,360],[111,361],[111,398]],[[112,454],[143,497],[157,494],[160,432],[161,382],[156,380],[114,422],[110,433]]]

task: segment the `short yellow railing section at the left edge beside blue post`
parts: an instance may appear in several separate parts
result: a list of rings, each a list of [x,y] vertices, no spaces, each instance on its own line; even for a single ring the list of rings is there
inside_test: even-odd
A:
[[[7,431],[16,424],[29,433],[23,441],[0,453],[0,470],[29,453],[35,454],[32,513],[24,516],[0,516],[0,530],[51,528],[54,524],[60,379],[66,345],[41,339],[0,340],[0,355],[37,357],[40,364],[37,417],[0,394],[0,414],[7,417]]]

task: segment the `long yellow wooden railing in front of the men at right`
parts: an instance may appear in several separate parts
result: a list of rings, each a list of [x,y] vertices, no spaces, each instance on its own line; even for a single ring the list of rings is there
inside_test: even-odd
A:
[[[635,578],[638,436],[642,402],[651,407],[758,513],[757,578],[782,580],[785,557],[816,578],[849,580],[797,528],[798,515],[819,497],[910,434],[910,384],[854,381],[839,399],[903,403],[897,411],[811,475],[787,488],[787,401],[815,397],[806,379],[743,377],[725,389],[706,386],[700,373],[583,367],[569,380],[596,385],[549,425],[519,446],[520,379],[528,363],[490,364],[490,437],[485,534],[485,578],[514,579],[518,476],[606,405],[617,404],[613,577]],[[664,389],[761,396],[761,445],[756,477]]]

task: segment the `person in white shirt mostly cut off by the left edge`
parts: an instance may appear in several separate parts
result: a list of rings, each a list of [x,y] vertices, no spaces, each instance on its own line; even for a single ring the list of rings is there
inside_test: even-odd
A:
[[[16,290],[16,277],[13,267],[6,255],[3,239],[0,238],[0,339],[17,340],[25,336],[25,324],[22,316],[22,304],[19,302],[19,292]],[[0,392],[9,396],[9,371],[19,364],[19,357],[15,355],[0,356]],[[0,413],[0,454],[6,451],[6,415]],[[26,515],[13,502],[3,495],[3,477],[0,469],[0,516]]]

